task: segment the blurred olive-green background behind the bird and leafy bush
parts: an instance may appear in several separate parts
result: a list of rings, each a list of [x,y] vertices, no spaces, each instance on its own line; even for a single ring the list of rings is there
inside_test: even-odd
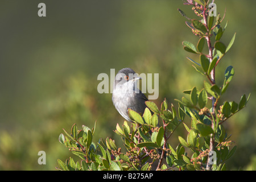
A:
[[[46,17],[38,4],[46,3]],[[215,1],[217,12],[229,20],[222,42],[237,32],[234,46],[216,70],[217,83],[225,68],[235,75],[225,100],[240,101],[251,93],[246,108],[225,123],[237,145],[228,169],[256,169],[256,51],[255,1]],[[198,38],[185,25],[180,8],[196,18],[190,6],[171,0],[1,1],[0,2],[0,169],[55,170],[57,159],[70,155],[59,143],[63,128],[73,123],[94,126],[93,142],[114,134],[123,118],[112,104],[112,94],[99,94],[100,73],[124,67],[137,73],[159,73],[160,106],[164,97],[177,103],[182,91],[203,87],[203,77],[191,67],[181,42]],[[224,24],[222,23],[222,24]],[[187,121],[189,125],[189,121]],[[189,125],[190,126],[190,125]],[[183,135],[180,126],[169,141]],[[38,151],[46,151],[46,165]]]

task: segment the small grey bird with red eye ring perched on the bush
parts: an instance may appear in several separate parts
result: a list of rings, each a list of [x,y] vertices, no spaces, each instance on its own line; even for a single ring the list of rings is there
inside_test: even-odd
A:
[[[137,81],[142,79],[131,68],[121,69],[115,76],[112,101],[115,109],[126,121],[133,122],[128,114],[128,109],[132,109],[139,114],[143,114],[146,109],[145,101],[147,97],[137,88]]]

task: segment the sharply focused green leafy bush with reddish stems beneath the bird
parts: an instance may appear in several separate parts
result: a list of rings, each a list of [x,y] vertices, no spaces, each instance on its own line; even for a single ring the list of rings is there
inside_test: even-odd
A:
[[[81,158],[81,162],[75,162],[69,158],[63,162],[58,160],[60,170],[225,170],[225,162],[236,151],[236,146],[229,140],[230,135],[222,125],[230,117],[243,109],[250,95],[245,94],[240,102],[224,101],[220,104],[220,98],[227,92],[230,81],[234,76],[234,68],[230,65],[226,68],[222,85],[216,84],[215,72],[218,63],[223,59],[232,47],[236,34],[230,40],[228,46],[221,42],[227,23],[221,27],[220,14],[212,16],[212,5],[209,1],[187,0],[185,5],[192,6],[199,19],[188,18],[179,9],[188,22],[193,34],[199,37],[195,46],[184,41],[185,51],[199,55],[199,61],[192,60],[192,66],[205,77],[203,88],[185,90],[187,95],[181,100],[175,109],[167,100],[162,102],[160,109],[154,102],[146,101],[148,108],[143,115],[129,109],[130,118],[134,121],[131,126],[125,121],[122,127],[117,124],[114,131],[122,138],[126,152],[122,152],[111,138],[102,139],[96,144],[93,142],[93,134],[96,131],[96,123],[92,129],[82,126],[77,129],[74,124],[71,134],[64,130],[60,134],[59,141],[64,144],[72,154]],[[225,16],[225,15],[224,15]],[[207,49],[204,51],[204,49]],[[154,114],[151,114],[151,111]],[[184,123],[184,118],[191,119],[191,125]],[[181,124],[182,123],[182,124]],[[187,130],[187,137],[179,136],[179,144],[175,147],[169,142],[177,127],[183,125]],[[189,151],[189,152],[188,152]]]

